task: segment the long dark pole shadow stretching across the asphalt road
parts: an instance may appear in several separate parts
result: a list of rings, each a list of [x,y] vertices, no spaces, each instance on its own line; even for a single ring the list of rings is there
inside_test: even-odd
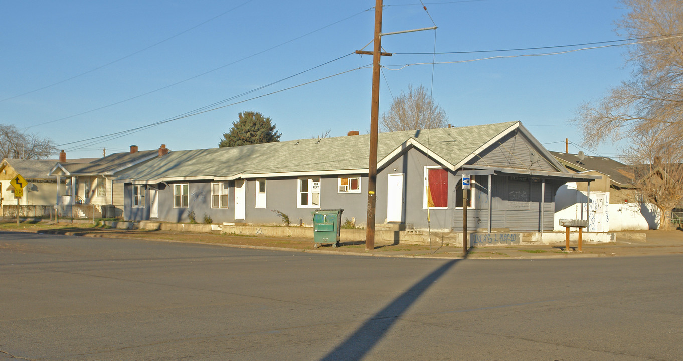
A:
[[[427,289],[460,259],[452,259],[419,280],[381,311],[370,317],[341,345],[320,361],[361,360],[387,334],[391,326],[417,301]]]

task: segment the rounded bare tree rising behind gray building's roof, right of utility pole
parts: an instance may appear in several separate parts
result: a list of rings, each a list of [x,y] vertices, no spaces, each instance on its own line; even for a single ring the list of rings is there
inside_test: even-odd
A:
[[[445,128],[447,122],[446,112],[432,100],[423,85],[415,89],[408,85],[408,93],[402,91],[389,111],[380,117],[380,127],[385,132]]]

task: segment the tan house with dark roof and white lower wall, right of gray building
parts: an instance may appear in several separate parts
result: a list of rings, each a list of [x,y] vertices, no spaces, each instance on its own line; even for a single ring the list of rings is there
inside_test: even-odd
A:
[[[602,175],[590,186],[585,182],[572,182],[561,187],[555,201],[555,229],[560,230],[560,218],[584,215],[589,220],[588,231],[626,231],[656,229],[657,208],[643,201],[639,192],[624,174],[626,164],[611,158],[582,156],[550,151],[555,159],[572,173]],[[588,192],[590,205],[587,206]],[[581,207],[580,205],[583,205]]]

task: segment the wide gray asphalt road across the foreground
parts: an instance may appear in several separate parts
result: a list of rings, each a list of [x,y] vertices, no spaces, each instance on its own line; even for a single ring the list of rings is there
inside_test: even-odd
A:
[[[680,360],[682,261],[0,232],[0,360]]]

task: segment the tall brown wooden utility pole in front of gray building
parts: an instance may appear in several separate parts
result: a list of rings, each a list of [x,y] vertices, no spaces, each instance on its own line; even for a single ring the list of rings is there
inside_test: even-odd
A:
[[[377,132],[380,111],[380,33],[382,33],[382,0],[375,0],[375,35],[372,49],[372,106],[370,109],[370,160],[367,164],[367,220],[365,250],[375,249],[375,190],[377,188]]]

